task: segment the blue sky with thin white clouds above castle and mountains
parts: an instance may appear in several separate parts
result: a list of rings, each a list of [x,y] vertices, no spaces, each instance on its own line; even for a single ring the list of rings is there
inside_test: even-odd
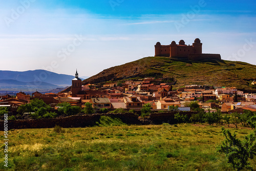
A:
[[[0,0],[0,70],[92,76],[183,39],[256,65],[255,1]]]

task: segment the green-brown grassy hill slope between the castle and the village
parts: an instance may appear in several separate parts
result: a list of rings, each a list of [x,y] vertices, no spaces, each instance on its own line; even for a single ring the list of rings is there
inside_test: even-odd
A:
[[[237,87],[241,90],[255,91],[251,81],[256,78],[256,66],[241,61],[178,60],[169,57],[144,57],[124,65],[105,69],[82,81],[82,84],[139,79],[144,77],[176,80],[174,87],[188,84],[201,84]]]

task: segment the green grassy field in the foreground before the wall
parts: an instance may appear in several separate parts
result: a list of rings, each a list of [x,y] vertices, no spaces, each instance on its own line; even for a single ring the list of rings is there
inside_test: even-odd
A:
[[[227,129],[238,138],[251,132]],[[102,124],[53,130],[9,131],[9,170],[233,170],[216,152],[224,139],[221,126]],[[256,169],[255,160],[251,165]]]

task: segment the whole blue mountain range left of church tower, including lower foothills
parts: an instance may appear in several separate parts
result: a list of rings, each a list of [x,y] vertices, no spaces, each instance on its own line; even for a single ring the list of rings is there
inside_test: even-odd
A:
[[[53,89],[56,88],[70,86],[73,78],[72,75],[57,74],[46,70],[0,71],[0,91],[54,91]]]

